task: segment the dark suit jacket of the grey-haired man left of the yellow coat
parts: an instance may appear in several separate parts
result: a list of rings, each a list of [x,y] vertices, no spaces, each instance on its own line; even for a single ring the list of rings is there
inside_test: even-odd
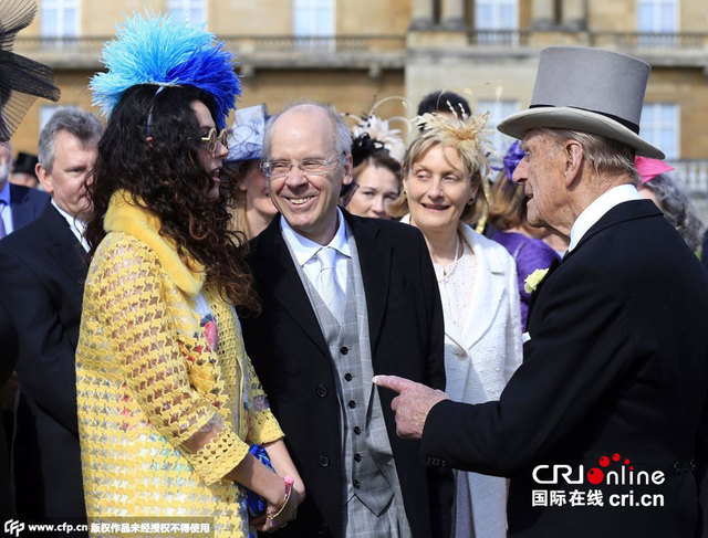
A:
[[[19,340],[14,478],[20,517],[85,518],[74,370],[84,255],[51,204],[0,241],[0,302]]]

